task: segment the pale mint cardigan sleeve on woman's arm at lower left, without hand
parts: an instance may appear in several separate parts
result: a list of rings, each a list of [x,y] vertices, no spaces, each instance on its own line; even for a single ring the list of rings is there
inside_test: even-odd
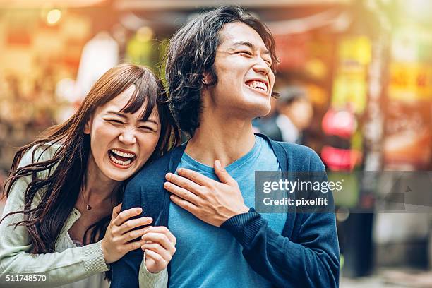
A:
[[[31,150],[26,153],[20,166],[31,162],[31,154]],[[31,176],[25,176],[13,184],[6,201],[4,215],[23,210],[24,191],[30,181]],[[39,203],[41,193],[35,195],[33,203]],[[5,282],[8,275],[11,277],[12,275],[37,274],[45,275],[46,281],[27,282],[28,286],[56,287],[108,270],[100,242],[83,247],[67,248],[62,252],[31,254],[32,244],[27,229],[13,225],[23,219],[23,214],[18,213],[4,218],[0,224],[0,283]],[[22,284],[25,286],[25,282]]]

